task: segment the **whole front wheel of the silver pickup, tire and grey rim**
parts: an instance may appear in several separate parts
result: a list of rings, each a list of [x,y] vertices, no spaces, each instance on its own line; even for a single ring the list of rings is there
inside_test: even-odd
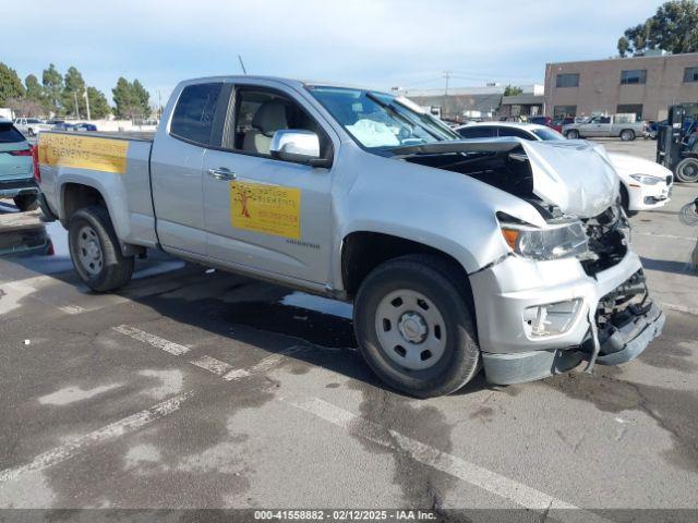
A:
[[[468,282],[437,256],[386,262],[363,281],[354,331],[373,372],[418,398],[448,394],[472,379],[480,349]]]

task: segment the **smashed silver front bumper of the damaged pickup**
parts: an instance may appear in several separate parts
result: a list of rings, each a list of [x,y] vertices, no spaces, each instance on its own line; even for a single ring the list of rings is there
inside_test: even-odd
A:
[[[531,263],[510,256],[471,275],[471,285],[485,377],[497,385],[564,373],[585,360],[628,362],[661,333],[665,319],[647,296],[640,259],[631,251],[593,276],[575,259]],[[540,321],[531,311],[547,316]]]

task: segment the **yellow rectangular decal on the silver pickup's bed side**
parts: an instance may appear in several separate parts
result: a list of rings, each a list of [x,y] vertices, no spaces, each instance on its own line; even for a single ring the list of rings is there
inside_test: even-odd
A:
[[[127,139],[53,133],[39,135],[39,162],[46,166],[123,174],[127,172],[128,151]]]

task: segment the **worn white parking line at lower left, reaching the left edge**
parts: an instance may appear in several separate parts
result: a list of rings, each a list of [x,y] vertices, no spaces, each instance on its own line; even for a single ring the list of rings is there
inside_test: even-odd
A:
[[[182,403],[192,397],[193,392],[190,391],[181,396],[170,398],[169,400],[153,405],[145,411],[132,414],[129,417],[124,417],[123,419],[107,425],[106,427],[99,428],[93,433],[86,434],[85,436],[81,436],[77,439],[68,441],[59,447],[43,452],[25,465],[0,471],[0,483],[11,482],[29,472],[43,471],[44,469],[48,469],[49,466],[70,460],[92,447],[96,447],[105,441],[139,430],[156,419],[177,412]]]

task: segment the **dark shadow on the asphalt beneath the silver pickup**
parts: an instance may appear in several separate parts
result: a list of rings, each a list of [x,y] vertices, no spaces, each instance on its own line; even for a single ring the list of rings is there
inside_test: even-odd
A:
[[[190,284],[190,290],[181,288],[131,300],[173,321],[253,345],[269,355],[300,345],[304,350],[293,352],[288,357],[309,366],[291,367],[294,374],[304,374],[311,370],[310,366],[316,366],[372,387],[388,389],[361,357],[353,324],[348,317],[289,304],[285,297],[298,293],[282,287],[236,275],[203,272],[202,268],[201,281]],[[132,285],[124,290],[123,295],[132,294]],[[320,307],[329,304],[333,308],[326,299],[303,296],[303,303],[312,304],[313,300],[317,300]],[[484,379],[477,378],[460,393],[485,387]]]

